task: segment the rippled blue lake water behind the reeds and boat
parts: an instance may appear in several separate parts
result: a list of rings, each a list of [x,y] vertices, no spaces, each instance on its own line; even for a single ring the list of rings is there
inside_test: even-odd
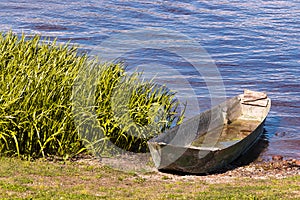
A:
[[[223,81],[215,87],[217,92],[220,90],[220,96],[224,97],[224,86],[227,97],[248,88],[266,91],[272,99],[271,112],[265,124],[267,147],[261,157],[270,159],[272,155],[281,154],[285,158],[300,158],[298,0],[203,0],[191,3],[3,0],[0,9],[1,31],[11,29],[18,34],[38,33],[57,37],[60,42],[71,40],[91,54],[99,52],[106,41],[111,42],[112,36],[125,36],[123,47],[126,49],[131,45],[122,55],[128,70],[142,66],[146,74],[156,73],[162,84],[165,78],[166,83],[175,87],[172,89],[178,88],[179,99],[188,96],[188,91],[192,90],[199,100],[199,108],[193,110],[191,104],[188,110],[189,115],[194,115],[213,104],[208,79],[196,73],[197,70],[191,68],[185,57],[160,48],[165,45],[164,40],[168,40],[168,31],[184,36],[188,39],[187,43],[196,43],[199,48],[204,48],[214,61]],[[149,38],[164,40],[154,40],[148,46],[145,35],[142,39],[132,39],[131,33],[135,30],[147,30]],[[155,33],[153,37],[151,30],[165,35]],[[172,36],[170,41],[176,41],[176,37]],[[178,40],[182,39],[180,37]],[[131,43],[128,44],[128,41]],[[122,48],[122,45],[117,47]],[[195,56],[194,48],[186,47],[180,52],[192,57]],[[167,69],[171,69],[172,75]],[[177,75],[173,74],[175,72],[178,72]],[[191,87],[186,89],[187,93],[185,86]],[[214,98],[217,98],[216,95]]]

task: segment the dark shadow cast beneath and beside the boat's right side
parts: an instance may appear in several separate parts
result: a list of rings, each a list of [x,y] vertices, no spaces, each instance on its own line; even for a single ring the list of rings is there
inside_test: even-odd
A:
[[[268,147],[269,141],[267,138],[267,131],[264,129],[263,134],[258,139],[258,141],[243,155],[239,156],[235,161],[232,163],[226,165],[222,169],[219,169],[217,171],[209,172],[209,173],[203,173],[203,174],[195,174],[195,173],[186,173],[186,172],[178,172],[178,171],[171,171],[171,170],[159,170],[163,173],[169,173],[174,175],[199,175],[199,176],[205,176],[205,175],[212,175],[212,174],[222,174],[230,170],[234,170],[239,167],[243,167],[246,165],[249,165],[253,162],[258,162],[259,156],[261,153]]]

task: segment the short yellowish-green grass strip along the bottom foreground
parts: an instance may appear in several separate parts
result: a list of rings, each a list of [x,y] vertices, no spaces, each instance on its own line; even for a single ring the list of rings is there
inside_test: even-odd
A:
[[[210,183],[203,177],[163,178],[78,162],[0,158],[2,199],[299,199],[300,176],[240,177]]]

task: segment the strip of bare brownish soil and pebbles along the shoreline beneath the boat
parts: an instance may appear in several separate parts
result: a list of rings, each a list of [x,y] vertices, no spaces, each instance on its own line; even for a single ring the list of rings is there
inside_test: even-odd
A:
[[[284,160],[281,157],[279,159],[274,157],[270,161],[254,161],[250,164],[243,164],[236,161],[219,172],[204,175],[160,172],[155,168],[149,153],[126,154],[114,158],[95,158],[92,156],[85,156],[83,158],[76,159],[75,162],[83,162],[89,165],[106,165],[117,170],[137,173],[140,177],[147,179],[166,179],[168,181],[197,179],[210,183],[226,183],[231,182],[236,178],[268,179],[272,177],[281,179],[300,175],[300,160]]]

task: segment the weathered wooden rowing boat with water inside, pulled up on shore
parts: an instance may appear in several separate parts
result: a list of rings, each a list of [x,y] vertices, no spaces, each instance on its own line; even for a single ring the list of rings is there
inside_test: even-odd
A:
[[[197,174],[222,169],[258,141],[270,107],[265,93],[245,90],[149,140],[155,166]]]

